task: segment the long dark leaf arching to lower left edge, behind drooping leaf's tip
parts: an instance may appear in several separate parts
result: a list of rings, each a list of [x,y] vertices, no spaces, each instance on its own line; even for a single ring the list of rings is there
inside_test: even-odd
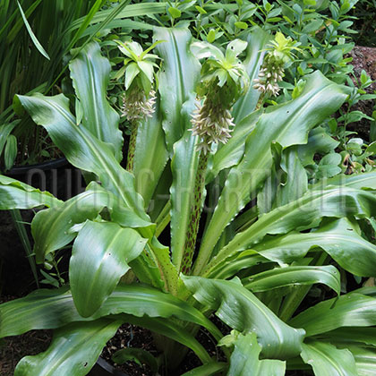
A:
[[[192,305],[173,295],[141,284],[116,286],[103,305],[90,318],[76,310],[66,287],[37,290],[21,299],[0,305],[0,338],[16,336],[31,329],[56,329],[72,321],[97,320],[126,313],[135,317],[171,318],[192,322],[209,330],[217,339],[217,327]]]

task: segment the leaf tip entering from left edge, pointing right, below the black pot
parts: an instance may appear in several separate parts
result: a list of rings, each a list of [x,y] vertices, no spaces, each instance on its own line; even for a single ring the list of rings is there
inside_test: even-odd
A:
[[[58,207],[62,201],[57,200],[49,192],[19,182],[12,177],[0,175],[0,209],[32,209],[44,205]]]

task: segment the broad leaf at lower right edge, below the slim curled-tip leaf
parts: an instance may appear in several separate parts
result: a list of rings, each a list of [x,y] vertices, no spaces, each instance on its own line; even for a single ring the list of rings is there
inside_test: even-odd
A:
[[[375,298],[351,293],[317,303],[299,313],[289,324],[305,329],[307,336],[342,327],[368,327],[376,325],[375,309]]]

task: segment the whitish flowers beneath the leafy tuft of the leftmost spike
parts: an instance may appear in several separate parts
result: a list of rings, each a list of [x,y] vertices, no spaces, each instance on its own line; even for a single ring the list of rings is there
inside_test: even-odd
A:
[[[151,117],[155,111],[155,103],[156,92],[154,90],[150,90],[149,98],[147,98],[143,90],[135,88],[123,95],[122,116],[130,122]]]

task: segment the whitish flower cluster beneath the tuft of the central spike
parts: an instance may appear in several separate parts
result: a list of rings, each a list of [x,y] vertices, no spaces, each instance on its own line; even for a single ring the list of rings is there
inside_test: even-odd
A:
[[[201,142],[197,150],[202,150],[204,154],[211,150],[212,143],[226,143],[231,137],[231,128],[234,127],[234,118],[230,111],[222,107],[213,107],[208,99],[203,106],[198,105],[193,112],[192,119],[193,135],[201,137]]]

